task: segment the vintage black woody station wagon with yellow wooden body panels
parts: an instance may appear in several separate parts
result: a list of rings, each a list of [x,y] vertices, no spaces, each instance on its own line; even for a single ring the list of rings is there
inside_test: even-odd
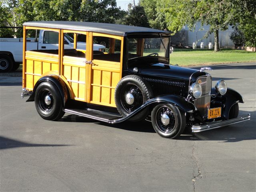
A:
[[[204,69],[169,64],[169,32],[45,21],[24,23],[24,39],[35,30],[50,31],[44,42],[56,41],[56,48],[28,51],[23,41],[22,97],[29,96],[46,120],[65,112],[108,123],[146,118],[160,136],[176,138],[186,127],[200,132],[250,119],[238,117],[244,99],[224,80],[212,88]],[[95,50],[94,44],[104,48]]]

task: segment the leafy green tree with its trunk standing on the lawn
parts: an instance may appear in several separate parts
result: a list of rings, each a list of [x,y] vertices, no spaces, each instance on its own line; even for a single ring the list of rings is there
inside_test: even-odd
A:
[[[220,50],[218,44],[219,30],[227,30],[231,24],[236,24],[234,18],[233,0],[164,0],[170,5],[164,8],[166,14],[167,27],[174,33],[181,30],[184,25],[188,25],[190,30],[194,30],[195,24],[201,22],[203,25],[210,25],[205,38],[214,33],[214,51]]]

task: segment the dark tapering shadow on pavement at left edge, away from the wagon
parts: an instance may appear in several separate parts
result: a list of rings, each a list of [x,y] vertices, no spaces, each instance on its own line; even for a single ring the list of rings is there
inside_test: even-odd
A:
[[[32,144],[0,136],[0,150],[17,147],[61,147],[70,145]]]

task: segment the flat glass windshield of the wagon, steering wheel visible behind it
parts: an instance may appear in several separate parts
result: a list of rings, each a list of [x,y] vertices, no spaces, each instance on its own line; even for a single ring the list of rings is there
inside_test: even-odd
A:
[[[128,38],[128,58],[169,57],[169,38]]]

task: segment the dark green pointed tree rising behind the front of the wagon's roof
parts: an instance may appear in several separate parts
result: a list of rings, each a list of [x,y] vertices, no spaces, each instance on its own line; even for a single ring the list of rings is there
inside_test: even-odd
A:
[[[144,7],[131,6],[128,9],[128,13],[124,18],[118,21],[119,24],[131,25],[131,26],[142,26],[149,27],[148,18],[144,11]]]

